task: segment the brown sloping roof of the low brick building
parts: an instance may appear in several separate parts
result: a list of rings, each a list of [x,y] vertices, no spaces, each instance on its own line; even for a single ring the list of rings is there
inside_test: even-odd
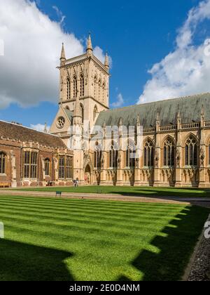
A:
[[[0,137],[37,142],[48,147],[66,147],[61,138],[49,133],[39,132],[18,124],[0,121]]]

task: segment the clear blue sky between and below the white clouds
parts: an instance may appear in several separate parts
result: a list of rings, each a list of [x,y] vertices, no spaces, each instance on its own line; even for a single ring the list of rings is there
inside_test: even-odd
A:
[[[111,104],[121,95],[125,106],[137,103],[139,96],[144,92],[146,82],[151,79],[148,70],[174,51],[178,29],[186,22],[190,9],[201,1],[39,0],[36,2],[38,9],[47,14],[50,20],[59,22],[64,15],[62,29],[69,34],[73,33],[83,45],[90,31],[93,45],[109,51],[112,58]],[[59,10],[59,15],[55,6]],[[202,22],[202,27],[199,27],[200,33],[194,36],[195,45],[202,44],[204,39],[210,37],[208,29],[209,21]],[[33,50],[34,48],[31,48],[31,51]],[[68,51],[66,56],[69,57]],[[53,70],[56,71],[54,68]],[[30,67],[30,71],[33,71],[33,68]],[[44,124],[44,122],[50,125],[57,112],[57,104],[55,101],[52,103],[41,101],[35,107],[27,106],[27,103],[18,106],[12,102],[6,108],[0,109],[0,119],[20,122],[26,126]]]

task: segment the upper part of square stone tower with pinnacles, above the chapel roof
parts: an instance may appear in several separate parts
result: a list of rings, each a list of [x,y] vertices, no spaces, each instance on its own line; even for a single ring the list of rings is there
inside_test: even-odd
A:
[[[59,105],[71,112],[79,98],[82,121],[94,125],[99,112],[109,109],[109,58],[104,64],[93,54],[92,40],[87,39],[86,53],[66,59],[64,44],[60,58]]]

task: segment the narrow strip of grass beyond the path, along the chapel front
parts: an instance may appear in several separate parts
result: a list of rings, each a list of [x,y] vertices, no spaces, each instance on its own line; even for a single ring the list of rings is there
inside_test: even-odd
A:
[[[83,186],[74,187],[50,187],[50,188],[22,188],[21,191],[40,192],[83,192],[83,193],[105,193],[131,196],[155,196],[155,197],[210,197],[209,189],[198,188],[144,188],[144,187],[122,187],[122,186]]]

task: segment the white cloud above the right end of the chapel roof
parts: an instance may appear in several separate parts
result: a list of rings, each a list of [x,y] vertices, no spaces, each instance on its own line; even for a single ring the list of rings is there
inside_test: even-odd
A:
[[[174,52],[149,71],[152,79],[144,86],[139,103],[210,91],[210,40],[199,46],[193,44],[197,25],[204,20],[210,20],[210,0],[201,1],[189,11]]]

